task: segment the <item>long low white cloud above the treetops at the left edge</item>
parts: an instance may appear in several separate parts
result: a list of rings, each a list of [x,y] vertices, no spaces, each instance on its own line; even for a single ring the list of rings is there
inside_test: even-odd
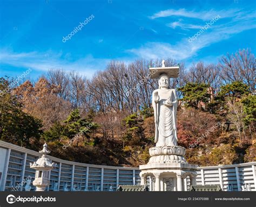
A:
[[[76,61],[68,61],[61,57],[62,53],[53,53],[51,51],[45,53],[14,53],[6,49],[0,51],[1,64],[31,68],[32,70],[43,72],[48,71],[50,68],[62,68],[66,71],[75,70],[87,77],[92,77],[97,70],[104,69],[110,61],[110,59],[97,59],[92,55],[86,55]]]

